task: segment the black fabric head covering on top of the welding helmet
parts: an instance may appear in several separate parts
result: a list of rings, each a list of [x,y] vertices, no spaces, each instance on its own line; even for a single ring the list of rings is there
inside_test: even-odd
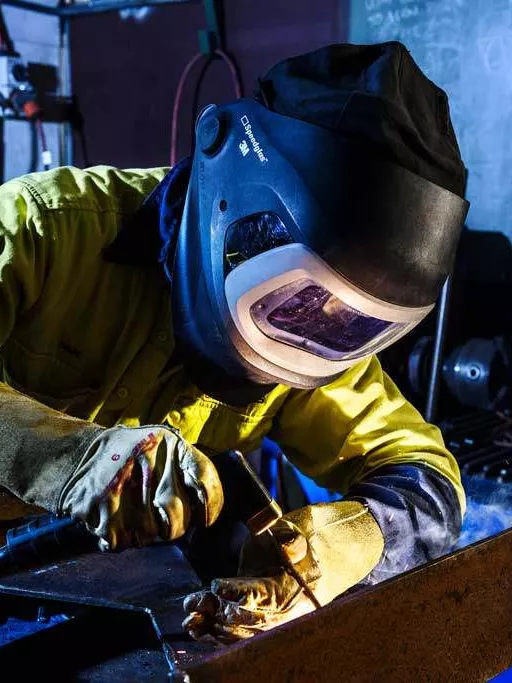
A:
[[[329,45],[272,67],[270,110],[370,143],[374,154],[463,196],[465,168],[446,93],[399,42]]]

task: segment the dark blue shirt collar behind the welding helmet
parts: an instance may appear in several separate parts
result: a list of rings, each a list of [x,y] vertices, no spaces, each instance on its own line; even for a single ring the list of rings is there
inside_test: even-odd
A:
[[[174,166],[103,251],[105,260],[135,266],[165,265],[175,248],[192,160]]]

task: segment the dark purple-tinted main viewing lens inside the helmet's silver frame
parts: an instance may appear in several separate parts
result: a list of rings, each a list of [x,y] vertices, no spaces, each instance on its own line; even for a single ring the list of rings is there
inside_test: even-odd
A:
[[[283,300],[286,289],[294,289]],[[280,300],[274,307],[276,299]],[[394,323],[380,320],[351,308],[319,285],[308,285],[297,291],[297,284],[286,285],[264,297],[251,307],[255,322],[266,334],[291,345],[308,348],[308,343],[337,353],[349,353],[365,346]],[[265,329],[266,328],[266,329]],[[281,334],[279,333],[281,331]],[[319,353],[311,348],[311,351]],[[329,354],[327,354],[329,356]]]

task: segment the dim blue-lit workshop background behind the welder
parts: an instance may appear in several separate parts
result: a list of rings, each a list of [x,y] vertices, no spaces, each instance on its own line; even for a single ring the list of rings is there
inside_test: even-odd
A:
[[[458,547],[512,526],[512,2],[150,2],[0,2],[0,181],[69,163],[168,165],[191,151],[203,105],[250,95],[280,59],[331,42],[404,42],[449,95],[471,208],[439,305],[381,360],[458,458],[468,493]],[[278,444],[263,453],[274,497],[281,477],[295,502],[330,499]],[[27,629],[13,623],[7,641],[16,624]]]

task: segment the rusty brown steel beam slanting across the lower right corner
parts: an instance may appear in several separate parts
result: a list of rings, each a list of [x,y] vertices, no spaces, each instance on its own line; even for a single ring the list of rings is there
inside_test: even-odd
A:
[[[182,670],[190,683],[483,683],[511,665],[508,530]]]

